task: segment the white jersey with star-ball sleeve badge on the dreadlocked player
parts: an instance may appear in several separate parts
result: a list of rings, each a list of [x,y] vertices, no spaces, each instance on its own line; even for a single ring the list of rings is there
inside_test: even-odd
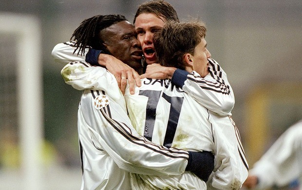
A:
[[[102,67],[87,66],[76,62],[62,70],[66,83],[74,88],[98,88],[84,90],[78,108],[81,189],[130,190],[130,172],[159,176],[184,172],[188,152],[157,146],[136,133],[114,76]],[[89,70],[97,70],[97,80]]]

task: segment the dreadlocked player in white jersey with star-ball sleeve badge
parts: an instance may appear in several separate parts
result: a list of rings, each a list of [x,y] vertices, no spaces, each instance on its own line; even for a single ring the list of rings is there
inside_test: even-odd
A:
[[[140,43],[134,26],[123,16],[86,19],[72,38],[82,54],[87,46],[99,48],[133,68],[141,68]],[[89,70],[97,75],[86,72]],[[105,68],[77,61],[66,65],[61,74],[67,84],[78,90],[92,89],[84,90],[78,107],[81,190],[137,189],[131,186],[130,172],[177,175],[192,171],[200,178],[208,178],[214,166],[211,152],[168,149],[151,143],[134,130],[117,81]],[[87,77],[94,79],[87,83],[83,80]]]

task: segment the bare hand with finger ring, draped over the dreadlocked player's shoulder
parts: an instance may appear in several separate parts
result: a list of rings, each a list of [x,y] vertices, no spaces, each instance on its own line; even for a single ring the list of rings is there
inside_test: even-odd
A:
[[[135,84],[138,87],[141,86],[139,74],[121,60],[111,55],[100,54],[97,62],[99,65],[105,66],[106,69],[115,76],[118,87],[123,95],[125,94],[127,79],[129,82],[130,94],[134,94]]]

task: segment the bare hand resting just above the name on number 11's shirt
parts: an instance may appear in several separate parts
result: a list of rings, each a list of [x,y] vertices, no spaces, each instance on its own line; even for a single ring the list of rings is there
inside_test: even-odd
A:
[[[153,78],[153,79],[166,79],[172,78],[176,68],[164,67],[158,63],[147,65],[146,73],[141,75],[140,78]]]

